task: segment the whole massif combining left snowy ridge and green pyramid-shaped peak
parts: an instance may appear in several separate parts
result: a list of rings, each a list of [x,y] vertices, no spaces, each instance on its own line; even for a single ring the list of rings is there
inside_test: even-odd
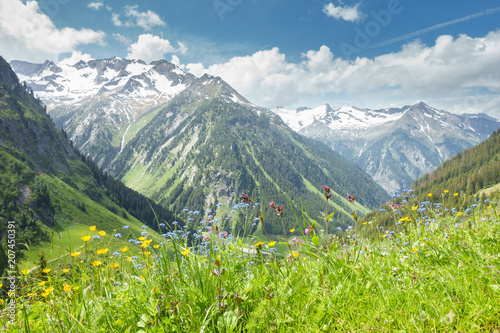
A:
[[[242,193],[266,203],[266,229],[283,228],[270,201],[321,219],[332,189],[331,223],[347,227],[388,199],[354,162],[295,133],[218,77],[197,78],[164,60],[111,58],[77,63],[12,61],[73,144],[129,187],[159,204],[227,210]],[[356,207],[347,201],[356,195]],[[291,209],[285,221],[295,225]],[[240,219],[240,221],[243,221]]]

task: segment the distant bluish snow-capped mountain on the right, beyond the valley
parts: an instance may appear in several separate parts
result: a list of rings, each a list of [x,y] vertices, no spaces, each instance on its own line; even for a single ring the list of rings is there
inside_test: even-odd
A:
[[[272,111],[296,132],[355,161],[389,193],[408,187],[500,127],[485,114],[456,115],[425,103],[381,110],[333,110],[326,104]]]

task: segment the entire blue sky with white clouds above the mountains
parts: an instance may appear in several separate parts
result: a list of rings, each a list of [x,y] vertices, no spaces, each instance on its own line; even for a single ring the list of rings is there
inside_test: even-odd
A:
[[[268,107],[500,116],[499,22],[492,0],[0,0],[0,55],[164,58]]]

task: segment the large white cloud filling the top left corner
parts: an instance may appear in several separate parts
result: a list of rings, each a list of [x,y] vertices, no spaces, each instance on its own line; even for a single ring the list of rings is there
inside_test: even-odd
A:
[[[56,28],[36,1],[1,0],[0,53],[7,59],[57,60],[78,45],[104,45],[104,37],[102,31]]]

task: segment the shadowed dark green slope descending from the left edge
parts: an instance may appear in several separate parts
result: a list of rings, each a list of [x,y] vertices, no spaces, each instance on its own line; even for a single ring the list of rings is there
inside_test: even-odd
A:
[[[81,236],[92,234],[88,228],[92,225],[105,231],[106,237],[121,232],[123,240],[110,240],[117,247],[128,236],[137,238],[143,224],[158,228],[153,210],[161,220],[174,219],[169,211],[127,188],[75,151],[65,133],[55,128],[41,102],[19,83],[0,57],[2,247],[7,244],[3,238],[7,236],[8,221],[15,221],[19,252],[37,244],[43,249],[47,244],[44,242],[68,234],[73,241],[66,240],[66,247],[61,249],[67,255],[69,245],[76,248],[84,243]],[[123,230],[125,225],[129,228]],[[160,240],[156,232],[152,233]],[[4,250],[0,251],[2,258]],[[17,256],[20,258],[21,254]]]

